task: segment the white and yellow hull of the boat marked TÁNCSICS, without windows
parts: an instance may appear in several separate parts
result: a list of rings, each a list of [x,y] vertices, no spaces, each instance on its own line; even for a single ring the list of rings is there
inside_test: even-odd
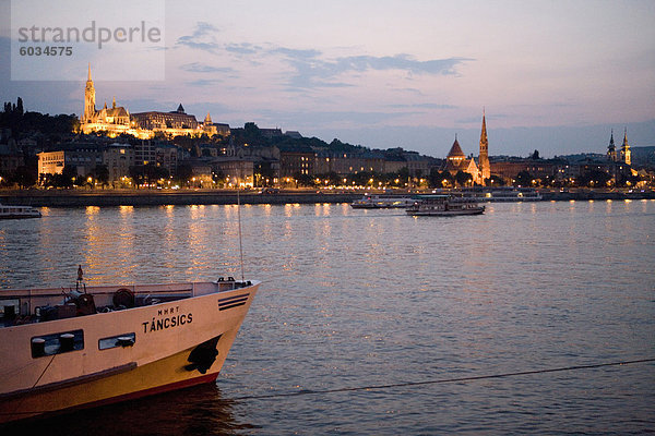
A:
[[[258,287],[193,283],[180,300],[1,328],[0,422],[214,382]],[[94,295],[102,299],[100,291]],[[83,331],[82,349],[34,356],[34,338],[67,331]],[[100,349],[107,338],[126,335],[133,343]]]

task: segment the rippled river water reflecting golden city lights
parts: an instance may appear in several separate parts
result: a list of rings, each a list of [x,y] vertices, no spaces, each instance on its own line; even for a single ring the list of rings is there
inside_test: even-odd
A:
[[[451,218],[346,204],[41,211],[0,222],[0,288],[70,287],[79,264],[90,284],[240,277],[239,214],[246,278],[263,283],[216,385],[25,431],[655,429],[653,362],[584,367],[655,358],[655,201]]]

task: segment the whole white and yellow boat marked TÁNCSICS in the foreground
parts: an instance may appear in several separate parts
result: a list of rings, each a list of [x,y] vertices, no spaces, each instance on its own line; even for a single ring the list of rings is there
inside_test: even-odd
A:
[[[0,291],[0,422],[215,380],[259,284]]]

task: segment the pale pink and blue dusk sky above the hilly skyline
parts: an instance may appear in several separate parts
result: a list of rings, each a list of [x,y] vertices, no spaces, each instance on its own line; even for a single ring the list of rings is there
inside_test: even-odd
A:
[[[8,10],[2,0],[2,55],[15,36]],[[165,81],[103,77],[107,51],[80,61],[105,78],[98,101],[116,96],[133,112],[182,102],[235,126],[441,156],[455,133],[477,150],[485,107],[492,155],[603,153],[611,128],[655,145],[653,23],[653,1],[167,1]],[[72,82],[0,74],[4,101],[81,110],[85,71]]]

